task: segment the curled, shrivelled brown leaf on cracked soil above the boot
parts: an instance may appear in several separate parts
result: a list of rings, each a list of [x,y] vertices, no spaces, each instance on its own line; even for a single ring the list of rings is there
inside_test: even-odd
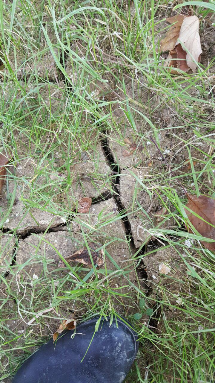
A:
[[[90,248],[90,252],[91,252],[91,256],[93,258],[94,265],[97,264],[99,267],[102,266],[103,265],[103,258],[102,258],[103,252],[101,250],[99,252],[96,251],[97,247],[96,247],[96,244],[94,244],[93,242],[89,242],[88,246]],[[90,254],[89,254],[86,246],[82,247],[82,249],[76,251],[74,254],[68,255],[68,257],[65,257],[65,260],[67,262],[72,261],[72,262],[82,263],[83,265],[86,265],[90,268],[92,267]],[[65,268],[66,265],[62,260],[60,260],[58,267],[64,267]]]

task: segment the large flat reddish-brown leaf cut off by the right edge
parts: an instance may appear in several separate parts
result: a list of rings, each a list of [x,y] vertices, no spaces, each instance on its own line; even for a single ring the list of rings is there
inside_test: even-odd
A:
[[[199,234],[201,234],[201,236],[215,239],[215,228],[210,226],[210,224],[215,226],[215,200],[205,195],[200,195],[200,197],[188,195],[188,198],[189,200],[186,207],[204,219],[203,221],[203,219],[196,217],[193,213],[185,209],[192,225],[199,232]],[[189,227],[187,229],[188,231],[191,230]],[[201,241],[201,243],[208,250],[215,251],[215,242]]]

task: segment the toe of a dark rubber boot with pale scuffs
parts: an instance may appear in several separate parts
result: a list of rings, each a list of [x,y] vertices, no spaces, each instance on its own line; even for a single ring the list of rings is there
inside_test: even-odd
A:
[[[118,319],[118,328],[116,322],[109,327],[109,321],[102,319],[94,334],[97,319],[79,324],[75,331],[65,332],[55,343],[50,340],[43,345],[24,362],[13,383],[124,381],[137,355],[137,335]]]

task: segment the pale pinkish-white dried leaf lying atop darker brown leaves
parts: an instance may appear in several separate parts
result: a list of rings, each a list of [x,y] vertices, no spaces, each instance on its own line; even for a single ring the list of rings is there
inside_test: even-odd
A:
[[[199,37],[199,18],[197,16],[186,17],[181,25],[181,30],[178,37],[178,43],[184,44],[187,49],[186,60],[189,68],[195,72],[202,53],[200,37]]]

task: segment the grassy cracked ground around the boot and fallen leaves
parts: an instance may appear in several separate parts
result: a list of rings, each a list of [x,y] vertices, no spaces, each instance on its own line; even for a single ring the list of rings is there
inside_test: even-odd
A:
[[[214,32],[211,13],[193,9],[201,62],[171,75],[158,52],[166,0],[1,3],[0,138],[13,160],[1,202],[12,235],[1,242],[0,381],[73,315],[130,320],[140,350],[127,383],[214,381],[214,254],[187,233],[184,212],[183,188],[215,196]],[[128,139],[137,150],[125,157]],[[75,213],[80,196],[109,192],[90,215]],[[65,238],[74,251],[96,242],[105,266],[57,268]]]

